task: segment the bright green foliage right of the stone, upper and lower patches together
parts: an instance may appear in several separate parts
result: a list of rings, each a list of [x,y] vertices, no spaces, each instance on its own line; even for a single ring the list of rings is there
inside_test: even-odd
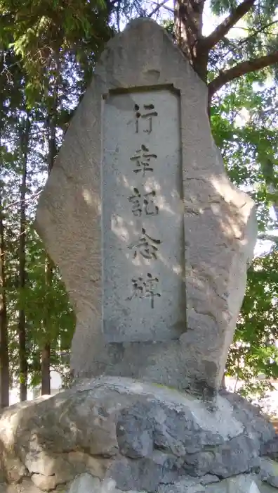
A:
[[[262,89],[258,80],[260,74],[253,74],[229,85],[211,108],[211,126],[227,173],[253,196],[259,232],[265,233],[277,227],[272,207],[278,201],[277,87],[273,84]],[[227,375],[244,383],[239,392],[246,396],[263,396],[278,378],[277,300],[274,245],[266,252],[264,249],[249,268],[244,304],[227,359]],[[260,380],[260,375],[265,379]]]

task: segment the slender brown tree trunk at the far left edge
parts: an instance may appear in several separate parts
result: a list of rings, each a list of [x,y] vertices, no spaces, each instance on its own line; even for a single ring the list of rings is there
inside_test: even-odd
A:
[[[8,320],[6,307],[4,216],[2,213],[2,186],[0,182],[0,407],[9,405]]]

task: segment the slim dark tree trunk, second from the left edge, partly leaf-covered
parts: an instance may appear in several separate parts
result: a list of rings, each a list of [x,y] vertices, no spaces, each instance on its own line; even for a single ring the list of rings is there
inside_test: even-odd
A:
[[[22,180],[20,186],[20,238],[18,249],[18,281],[19,289],[25,289],[26,281],[26,179],[27,179],[27,152],[29,143],[29,118],[27,117],[25,127],[22,128],[21,153],[22,153]],[[18,343],[19,343],[19,371],[20,371],[20,402],[27,400],[27,352],[26,352],[26,319],[25,310],[20,308],[18,313]]]

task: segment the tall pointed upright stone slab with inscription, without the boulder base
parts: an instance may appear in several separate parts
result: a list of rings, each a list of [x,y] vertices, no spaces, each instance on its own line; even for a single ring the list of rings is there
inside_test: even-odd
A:
[[[204,82],[157,23],[107,43],[37,209],[77,316],[76,376],[220,386],[256,219],[206,108]]]

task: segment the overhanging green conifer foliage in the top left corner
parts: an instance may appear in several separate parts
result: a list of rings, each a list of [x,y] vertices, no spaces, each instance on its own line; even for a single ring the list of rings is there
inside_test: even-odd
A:
[[[67,56],[86,73],[112,34],[105,0],[1,0],[0,39],[13,49],[26,74],[29,107],[46,96],[49,70]],[[0,44],[0,46],[1,46]]]

